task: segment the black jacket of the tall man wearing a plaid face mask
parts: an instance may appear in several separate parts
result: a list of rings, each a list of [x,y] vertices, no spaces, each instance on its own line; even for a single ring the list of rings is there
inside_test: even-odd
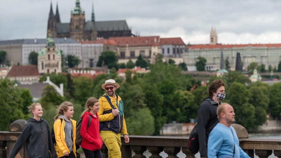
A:
[[[212,98],[207,97],[204,102],[199,106],[197,116],[198,126],[198,139],[199,139],[199,152],[200,157],[206,157],[207,142],[211,130],[218,123],[217,107],[218,103]]]

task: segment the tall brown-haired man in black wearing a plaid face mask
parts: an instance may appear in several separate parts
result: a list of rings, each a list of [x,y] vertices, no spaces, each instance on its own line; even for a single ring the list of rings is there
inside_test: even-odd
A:
[[[217,107],[225,99],[225,83],[222,80],[214,80],[208,87],[209,97],[199,106],[197,116],[198,139],[200,157],[207,157],[207,143],[211,130],[219,122],[217,119]]]

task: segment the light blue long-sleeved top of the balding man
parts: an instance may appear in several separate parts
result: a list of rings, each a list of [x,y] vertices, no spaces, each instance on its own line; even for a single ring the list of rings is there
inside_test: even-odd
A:
[[[231,131],[232,129],[232,131]],[[232,135],[233,133],[233,135]],[[234,138],[233,138],[234,136]],[[239,139],[232,126],[226,127],[218,123],[211,131],[208,139],[208,158],[231,158],[233,157],[233,148],[235,140],[234,158],[249,158],[241,147]]]

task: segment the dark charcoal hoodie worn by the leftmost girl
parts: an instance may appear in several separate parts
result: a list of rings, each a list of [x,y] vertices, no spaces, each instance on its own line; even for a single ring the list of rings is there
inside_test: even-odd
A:
[[[26,144],[25,144],[26,143]],[[51,132],[47,121],[40,118],[37,121],[30,117],[18,137],[9,158],[14,158],[25,144],[28,158],[48,158],[49,150],[56,158],[56,151],[52,142]]]

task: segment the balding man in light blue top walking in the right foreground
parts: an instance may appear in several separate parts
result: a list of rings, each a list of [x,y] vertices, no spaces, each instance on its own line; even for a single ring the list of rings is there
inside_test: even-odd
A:
[[[217,107],[220,120],[209,135],[208,158],[249,158],[239,147],[239,139],[231,125],[235,121],[235,113],[231,105],[222,103]],[[234,147],[235,146],[235,147]]]

